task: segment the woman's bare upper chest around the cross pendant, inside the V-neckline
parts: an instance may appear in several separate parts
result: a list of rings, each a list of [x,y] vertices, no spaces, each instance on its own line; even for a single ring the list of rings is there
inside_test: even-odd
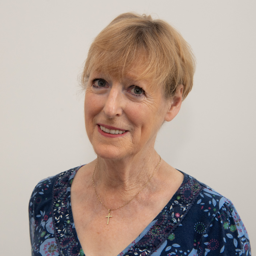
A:
[[[81,175],[83,173],[89,172],[80,172]],[[81,175],[78,172],[73,180],[70,196],[76,233],[86,256],[116,256],[121,253],[157,217],[182,181],[171,184],[161,179],[159,188],[157,186],[154,191],[145,188],[134,200],[108,214],[108,209],[96,197],[91,173]],[[157,179],[154,184],[157,184]],[[105,201],[111,198],[108,205],[123,204],[119,193],[98,194]]]

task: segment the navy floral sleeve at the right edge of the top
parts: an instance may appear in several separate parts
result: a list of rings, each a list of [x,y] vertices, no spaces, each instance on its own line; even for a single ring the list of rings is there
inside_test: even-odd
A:
[[[198,248],[198,255],[251,255],[248,233],[231,201],[226,201],[209,224]]]

